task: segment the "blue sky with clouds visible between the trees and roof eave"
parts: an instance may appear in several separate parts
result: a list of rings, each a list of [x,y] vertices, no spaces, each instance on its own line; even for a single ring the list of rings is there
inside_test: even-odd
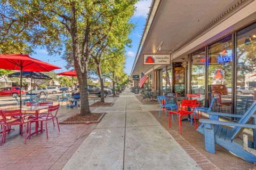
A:
[[[131,18],[131,22],[135,24],[135,29],[132,31],[130,34],[130,38],[132,39],[132,47],[126,47],[126,66],[125,66],[125,72],[130,75],[133,61],[135,59],[135,55],[138,50],[138,46],[140,43],[140,38],[143,33],[143,28],[145,27],[144,25],[146,24],[146,19],[147,19],[147,14],[149,11],[149,7],[151,5],[151,0],[145,0],[145,1],[140,1],[136,4],[136,11]],[[31,57],[49,62],[51,64],[54,64],[55,66],[59,66],[62,69],[55,70],[55,72],[62,72],[66,71],[65,65],[66,61],[61,59],[61,55],[48,55],[47,51],[42,48],[37,48],[36,54],[31,55]]]

